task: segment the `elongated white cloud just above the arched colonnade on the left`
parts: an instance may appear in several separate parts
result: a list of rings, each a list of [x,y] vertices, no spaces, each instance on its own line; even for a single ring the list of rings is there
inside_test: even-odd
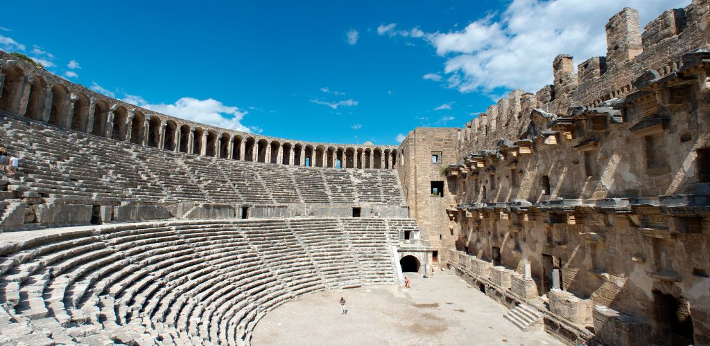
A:
[[[261,128],[248,127],[241,123],[247,111],[242,111],[235,106],[226,106],[215,99],[198,100],[182,97],[173,104],[150,104],[141,96],[126,95],[122,101],[197,123],[243,132],[261,132]]]

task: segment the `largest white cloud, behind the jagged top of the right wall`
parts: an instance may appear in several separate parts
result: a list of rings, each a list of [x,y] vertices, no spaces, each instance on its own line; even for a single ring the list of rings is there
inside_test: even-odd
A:
[[[606,55],[604,26],[624,7],[638,9],[641,27],[667,9],[690,0],[513,0],[499,16],[486,16],[460,30],[422,33],[444,58],[447,87],[461,92],[501,92],[495,89],[537,91],[552,82],[552,60],[574,56],[575,65]],[[544,18],[544,19],[540,19]],[[378,28],[380,35],[413,36]],[[455,27],[455,26],[454,26]],[[380,30],[381,29],[381,30]]]

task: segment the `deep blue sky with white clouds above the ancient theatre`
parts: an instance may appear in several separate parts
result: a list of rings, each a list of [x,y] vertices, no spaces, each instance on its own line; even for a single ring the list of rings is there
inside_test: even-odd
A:
[[[3,1],[0,49],[173,116],[264,135],[398,144],[460,127],[552,59],[604,55],[625,6],[642,26],[689,0]]]

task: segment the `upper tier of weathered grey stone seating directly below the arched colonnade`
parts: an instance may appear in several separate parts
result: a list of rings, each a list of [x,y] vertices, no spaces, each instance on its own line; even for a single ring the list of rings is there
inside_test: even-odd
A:
[[[0,138],[21,157],[16,184],[45,198],[94,204],[405,203],[393,169],[302,167],[190,155],[7,114],[0,114]]]

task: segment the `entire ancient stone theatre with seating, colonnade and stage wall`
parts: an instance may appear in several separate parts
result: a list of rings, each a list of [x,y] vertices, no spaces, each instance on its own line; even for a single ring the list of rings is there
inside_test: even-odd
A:
[[[0,345],[248,345],[403,272],[569,345],[710,345],[710,1],[623,9],[606,41],[399,146],[193,123],[0,52]]]

